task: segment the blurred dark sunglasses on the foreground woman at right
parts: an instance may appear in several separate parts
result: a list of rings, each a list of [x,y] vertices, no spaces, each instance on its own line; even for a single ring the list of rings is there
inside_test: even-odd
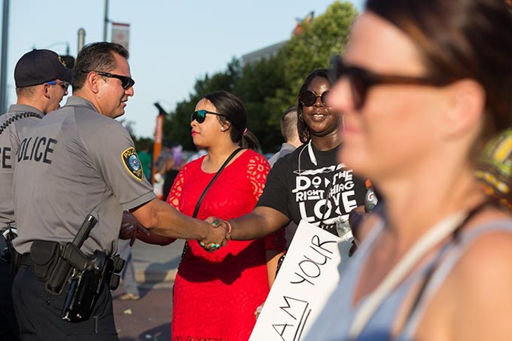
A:
[[[377,74],[363,67],[346,65],[339,55],[332,58],[332,81],[347,78],[352,91],[352,100],[356,109],[365,105],[366,94],[372,86],[380,84],[409,84],[419,86],[445,86],[451,81],[429,76],[402,76],[396,74]]]

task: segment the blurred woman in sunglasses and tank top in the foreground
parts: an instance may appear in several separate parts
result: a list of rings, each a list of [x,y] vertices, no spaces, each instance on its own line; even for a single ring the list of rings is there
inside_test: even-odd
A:
[[[339,160],[372,179],[355,258],[306,340],[510,340],[512,217],[475,177],[512,126],[501,0],[368,0],[330,104]]]

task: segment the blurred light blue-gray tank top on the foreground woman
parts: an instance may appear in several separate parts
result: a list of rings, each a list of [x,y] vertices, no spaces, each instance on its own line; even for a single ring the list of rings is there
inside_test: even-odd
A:
[[[368,234],[361,248],[359,248],[354,258],[349,262],[348,268],[346,272],[344,272],[344,276],[342,276],[338,287],[335,292],[332,293],[328,304],[325,306],[325,309],[304,340],[349,340],[348,335],[353,319],[358,309],[361,308],[367,298],[362,297],[357,305],[352,307],[353,295],[360,274],[359,269],[363,267],[373,244],[383,229],[383,221],[378,222],[377,225],[372,228],[372,231]],[[476,241],[479,236],[488,232],[497,231],[512,233],[512,220],[485,222],[471,229],[469,232],[460,234],[456,243],[451,241],[447,242],[445,247],[441,248],[436,256],[429,262],[426,262],[422,267],[419,267],[419,269],[416,269],[415,272],[412,272],[410,276],[407,276],[407,278],[386,297],[372,315],[357,340],[413,340],[413,336],[415,335],[428,303],[445,281],[448,274],[450,274],[457,260],[464,255],[467,248],[469,248],[473,241]],[[440,261],[438,262],[438,260]],[[405,296],[410,292],[411,286],[417,283],[417,281],[424,279],[425,274],[434,266],[437,268],[427,283],[424,294],[417,305],[417,309],[415,309],[410,316],[410,319],[400,335],[392,339],[391,328],[393,327],[400,307],[403,305]]]

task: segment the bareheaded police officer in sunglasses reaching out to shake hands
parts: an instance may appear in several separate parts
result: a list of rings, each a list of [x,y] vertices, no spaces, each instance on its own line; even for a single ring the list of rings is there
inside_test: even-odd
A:
[[[88,274],[94,272],[89,277],[81,276],[85,273],[81,265],[66,253],[56,265],[53,262],[60,247],[69,249],[88,215],[97,218],[97,224],[80,250],[91,259],[116,253],[123,210],[130,210],[158,234],[198,239],[216,248],[225,242],[224,229],[213,229],[156,199],[130,134],[114,120],[124,114],[134,84],[123,46],[107,42],[84,46],[74,65],[72,97],[39,120],[20,142],[13,187],[18,237],[13,246],[21,254],[21,265],[13,281],[13,301],[22,338],[118,340],[109,290],[112,281],[102,276],[108,262],[87,269]],[[73,264],[74,271],[65,276],[62,293],[55,290],[53,295],[48,292],[53,281],[43,274],[50,273],[50,279],[60,274],[55,269],[61,269],[63,259]],[[88,290],[81,283],[96,279],[96,270],[102,281],[90,286],[94,299],[68,305],[67,293],[73,300],[76,290]],[[76,282],[78,278],[84,282]],[[86,314],[68,314],[82,308]]]

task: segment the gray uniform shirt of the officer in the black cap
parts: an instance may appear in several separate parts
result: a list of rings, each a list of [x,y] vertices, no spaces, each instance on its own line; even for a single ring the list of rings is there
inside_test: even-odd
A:
[[[13,205],[13,177],[15,155],[21,137],[27,129],[43,117],[43,113],[30,105],[11,105],[0,116],[0,229],[7,224],[15,227]]]

